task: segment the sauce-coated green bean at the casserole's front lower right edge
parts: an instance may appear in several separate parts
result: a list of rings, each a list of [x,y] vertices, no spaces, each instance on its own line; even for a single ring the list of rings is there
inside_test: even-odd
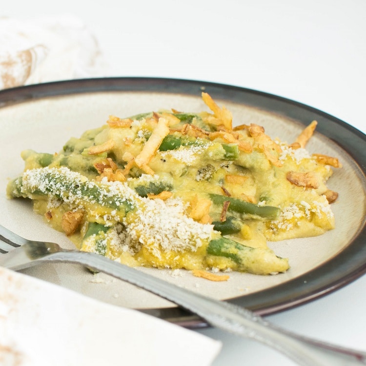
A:
[[[277,257],[270,249],[252,248],[223,237],[210,241],[207,254],[231,259],[242,272],[264,275],[289,268],[288,260]]]

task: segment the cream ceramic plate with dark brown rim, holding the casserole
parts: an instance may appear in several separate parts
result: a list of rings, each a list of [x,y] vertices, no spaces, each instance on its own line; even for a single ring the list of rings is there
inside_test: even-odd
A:
[[[23,169],[20,151],[33,148],[54,153],[71,136],[105,123],[109,115],[127,117],[160,108],[198,112],[208,92],[233,113],[234,124],[257,123],[272,138],[292,142],[313,120],[316,133],[310,152],[337,156],[343,164],[328,182],[339,192],[332,204],[336,228],[315,238],[270,243],[288,257],[291,268],[275,276],[230,273],[230,280],[212,283],[188,271],[141,270],[193,291],[225,299],[266,315],[333,291],[366,272],[366,136],[322,111],[274,95],[201,81],[153,78],[105,78],[60,81],[0,91],[1,177],[0,224],[29,239],[54,241],[72,248],[32,212],[25,200],[8,200],[5,186]],[[2,193],[1,193],[2,192]],[[196,316],[135,286],[103,274],[92,275],[73,264],[44,264],[23,271],[110,304],[139,309],[187,327],[204,326]]]

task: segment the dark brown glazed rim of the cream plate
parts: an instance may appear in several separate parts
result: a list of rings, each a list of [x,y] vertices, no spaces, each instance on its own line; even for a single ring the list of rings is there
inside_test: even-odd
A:
[[[52,81],[0,90],[0,108],[42,98],[98,92],[164,92],[243,103],[282,115],[302,124],[317,120],[317,131],[340,146],[358,165],[366,184],[366,135],[348,123],[307,104],[275,94],[223,83],[172,78],[107,77]],[[364,154],[365,155],[365,154]],[[339,254],[283,284],[226,300],[259,315],[270,315],[304,305],[355,281],[366,273],[366,223]],[[319,281],[321,279],[322,281]],[[296,290],[294,290],[296,289]],[[266,299],[263,302],[263,299]],[[180,307],[139,309],[188,328],[207,326],[198,316]]]

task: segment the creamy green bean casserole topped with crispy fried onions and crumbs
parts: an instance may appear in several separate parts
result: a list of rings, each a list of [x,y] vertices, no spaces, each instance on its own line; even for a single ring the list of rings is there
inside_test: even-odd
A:
[[[294,142],[272,140],[202,98],[209,111],[109,116],[59,153],[25,150],[7,194],[33,200],[79,249],[123,264],[215,281],[227,278],[218,271],[285,272],[267,242],[334,228],[326,181],[341,164],[305,149],[316,121]]]

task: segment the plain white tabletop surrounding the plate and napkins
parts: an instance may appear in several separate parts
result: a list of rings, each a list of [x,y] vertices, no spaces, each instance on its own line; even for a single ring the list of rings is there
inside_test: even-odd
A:
[[[2,15],[71,13],[96,35],[111,76],[215,81],[277,94],[366,132],[365,0],[6,1]],[[268,316],[300,334],[366,351],[366,276]],[[278,352],[217,329],[213,366],[292,366]],[[172,365],[174,365],[172,361]]]

